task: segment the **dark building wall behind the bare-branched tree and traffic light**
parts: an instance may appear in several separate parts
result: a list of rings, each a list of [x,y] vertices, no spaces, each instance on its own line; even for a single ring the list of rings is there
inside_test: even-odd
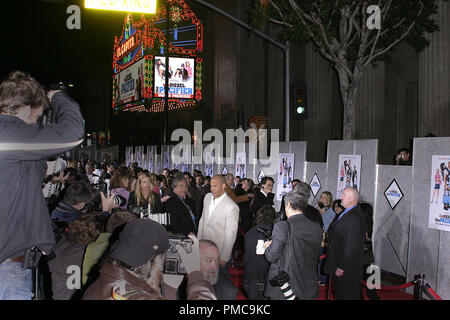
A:
[[[251,1],[215,1],[247,22]],[[449,4],[439,1],[441,31],[417,54],[401,44],[389,62],[369,66],[357,96],[355,139],[379,139],[378,163],[393,164],[398,149],[414,137],[450,135]],[[284,139],[282,51],[228,19],[214,15],[214,118],[219,128],[248,126],[252,116],[267,116],[268,127]],[[262,27],[264,28],[264,27]],[[273,29],[263,29],[274,34]],[[290,86],[307,85],[308,118],[291,119],[292,141],[308,141],[307,160],[325,161],[327,141],[342,138],[342,103],[336,71],[311,44],[291,44]],[[239,120],[239,121],[238,121]]]

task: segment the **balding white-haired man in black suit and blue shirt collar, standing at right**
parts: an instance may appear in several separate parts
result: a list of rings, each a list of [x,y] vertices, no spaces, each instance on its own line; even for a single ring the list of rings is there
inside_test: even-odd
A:
[[[337,300],[361,299],[363,246],[367,223],[358,201],[358,191],[346,188],[341,197],[345,210],[328,229],[328,252],[324,271],[331,275]]]

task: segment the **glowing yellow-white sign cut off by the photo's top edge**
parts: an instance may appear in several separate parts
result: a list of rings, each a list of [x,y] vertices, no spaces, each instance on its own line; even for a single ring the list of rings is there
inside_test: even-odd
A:
[[[156,13],[156,0],[85,0],[84,6],[88,9]]]

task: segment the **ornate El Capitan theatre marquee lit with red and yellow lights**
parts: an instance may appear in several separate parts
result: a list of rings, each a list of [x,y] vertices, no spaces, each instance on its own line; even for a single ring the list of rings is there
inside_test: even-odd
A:
[[[169,110],[195,107],[202,100],[202,51],[203,24],[185,0],[166,0],[136,21],[128,14],[114,39],[113,109],[164,111],[166,77]]]

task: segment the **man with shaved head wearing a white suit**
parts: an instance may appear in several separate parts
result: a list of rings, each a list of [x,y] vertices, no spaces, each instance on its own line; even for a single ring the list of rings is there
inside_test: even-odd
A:
[[[211,179],[211,193],[203,201],[197,237],[199,240],[214,241],[220,254],[220,272],[229,278],[227,265],[236,240],[239,207],[227,195],[225,188],[226,182],[222,175],[215,175]]]

